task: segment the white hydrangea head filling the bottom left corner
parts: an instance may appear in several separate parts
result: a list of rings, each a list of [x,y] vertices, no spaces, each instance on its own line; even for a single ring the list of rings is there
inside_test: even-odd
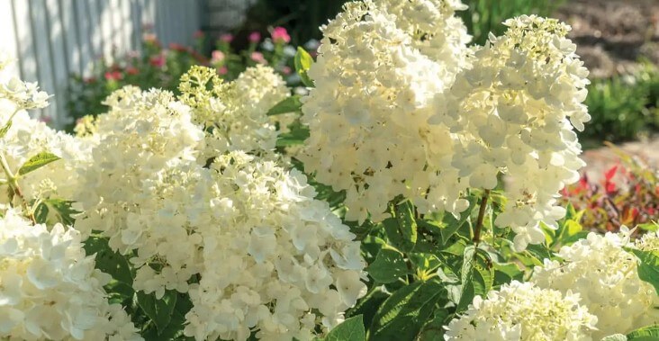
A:
[[[94,268],[75,229],[32,226],[18,211],[0,219],[0,337],[23,340],[141,340],[110,278]]]

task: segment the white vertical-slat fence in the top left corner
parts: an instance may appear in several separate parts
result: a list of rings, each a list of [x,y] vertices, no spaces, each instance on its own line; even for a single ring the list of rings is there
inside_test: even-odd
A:
[[[0,49],[14,55],[9,73],[39,82],[50,106],[33,112],[67,124],[68,77],[89,74],[100,58],[140,51],[143,25],[165,46],[191,45],[202,27],[203,0],[0,0]]]

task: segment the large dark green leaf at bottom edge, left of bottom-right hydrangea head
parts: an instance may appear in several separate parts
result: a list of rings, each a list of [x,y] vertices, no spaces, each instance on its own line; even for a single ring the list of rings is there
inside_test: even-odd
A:
[[[369,338],[372,340],[413,340],[446,297],[446,289],[434,281],[414,282],[393,292],[375,314]]]

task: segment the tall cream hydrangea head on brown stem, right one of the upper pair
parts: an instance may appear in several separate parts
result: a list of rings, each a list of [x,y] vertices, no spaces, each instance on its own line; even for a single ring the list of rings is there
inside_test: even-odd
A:
[[[459,135],[452,155],[459,181],[493,189],[505,175],[508,201],[495,223],[517,234],[522,251],[545,240],[540,221],[555,226],[565,213],[558,192],[579,179],[573,129],[590,120],[582,104],[589,81],[565,38],[569,26],[526,15],[504,23],[503,36],[474,49],[472,67],[456,76],[431,121]]]

